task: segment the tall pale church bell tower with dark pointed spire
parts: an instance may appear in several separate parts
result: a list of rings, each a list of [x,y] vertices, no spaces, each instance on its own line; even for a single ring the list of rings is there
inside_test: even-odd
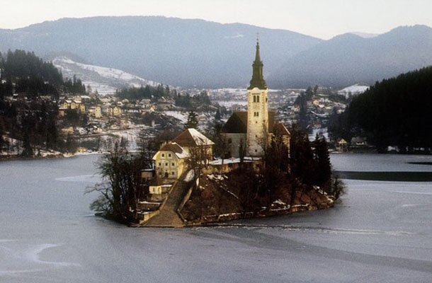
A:
[[[258,37],[252,67],[252,79],[247,89],[246,155],[256,157],[263,155],[263,146],[268,142],[268,88],[263,78],[263,62],[259,54]]]

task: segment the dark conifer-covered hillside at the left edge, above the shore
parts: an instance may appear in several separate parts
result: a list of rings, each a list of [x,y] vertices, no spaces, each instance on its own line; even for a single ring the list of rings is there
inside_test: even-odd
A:
[[[60,137],[57,125],[56,100],[62,93],[84,94],[86,88],[75,76],[63,79],[51,62],[33,52],[0,53],[0,154],[72,151],[72,139]]]

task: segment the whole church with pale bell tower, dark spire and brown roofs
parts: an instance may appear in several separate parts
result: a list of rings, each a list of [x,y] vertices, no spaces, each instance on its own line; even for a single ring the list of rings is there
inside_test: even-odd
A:
[[[244,156],[263,156],[263,147],[271,141],[275,131],[282,134],[288,150],[290,148],[290,132],[285,125],[275,121],[275,112],[268,111],[268,87],[263,78],[258,39],[252,67],[252,79],[247,89],[247,112],[233,112],[222,127],[231,157],[239,157],[241,150],[244,151]]]

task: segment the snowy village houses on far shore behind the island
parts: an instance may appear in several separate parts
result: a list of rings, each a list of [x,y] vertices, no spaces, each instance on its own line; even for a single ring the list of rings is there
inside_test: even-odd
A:
[[[108,151],[112,140],[125,138],[132,150],[137,146],[140,133],[154,137],[158,132],[176,132],[183,129],[188,120],[190,105],[198,120],[198,127],[203,132],[215,122],[226,122],[234,112],[247,110],[246,89],[188,90],[187,93],[174,94],[162,88],[160,98],[127,99],[119,96],[98,96],[96,93],[59,97],[57,123],[64,139],[70,140],[67,153],[54,150],[39,150],[47,157],[71,156],[71,154],[103,153]],[[365,137],[332,139],[327,132],[331,116],[346,109],[347,98],[354,96],[366,87],[352,86],[332,94],[327,88],[289,89],[285,91],[268,90],[268,108],[273,110],[273,118],[285,125],[300,122],[302,129],[309,132],[310,139],[316,134],[331,141],[329,146],[334,151],[368,151]],[[149,92],[149,91],[147,91]],[[184,96],[191,102],[186,105]],[[39,100],[52,101],[51,96],[39,96]],[[6,96],[5,100],[31,103],[23,94]],[[194,101],[198,100],[198,101]],[[201,101],[200,101],[201,100]],[[186,106],[186,107],[185,107]],[[4,157],[20,154],[22,141],[7,139],[7,149],[1,151]]]

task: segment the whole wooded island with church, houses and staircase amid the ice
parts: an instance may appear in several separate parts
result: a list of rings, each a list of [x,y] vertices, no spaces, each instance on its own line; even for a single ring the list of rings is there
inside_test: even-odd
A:
[[[210,138],[191,111],[183,132],[156,142],[156,154],[145,138],[137,154],[115,144],[100,161],[104,181],[90,190],[101,192],[91,208],[132,226],[181,227],[333,207],[343,185],[326,140],[311,143],[268,111],[258,41],[247,93],[247,112],[232,113]]]

